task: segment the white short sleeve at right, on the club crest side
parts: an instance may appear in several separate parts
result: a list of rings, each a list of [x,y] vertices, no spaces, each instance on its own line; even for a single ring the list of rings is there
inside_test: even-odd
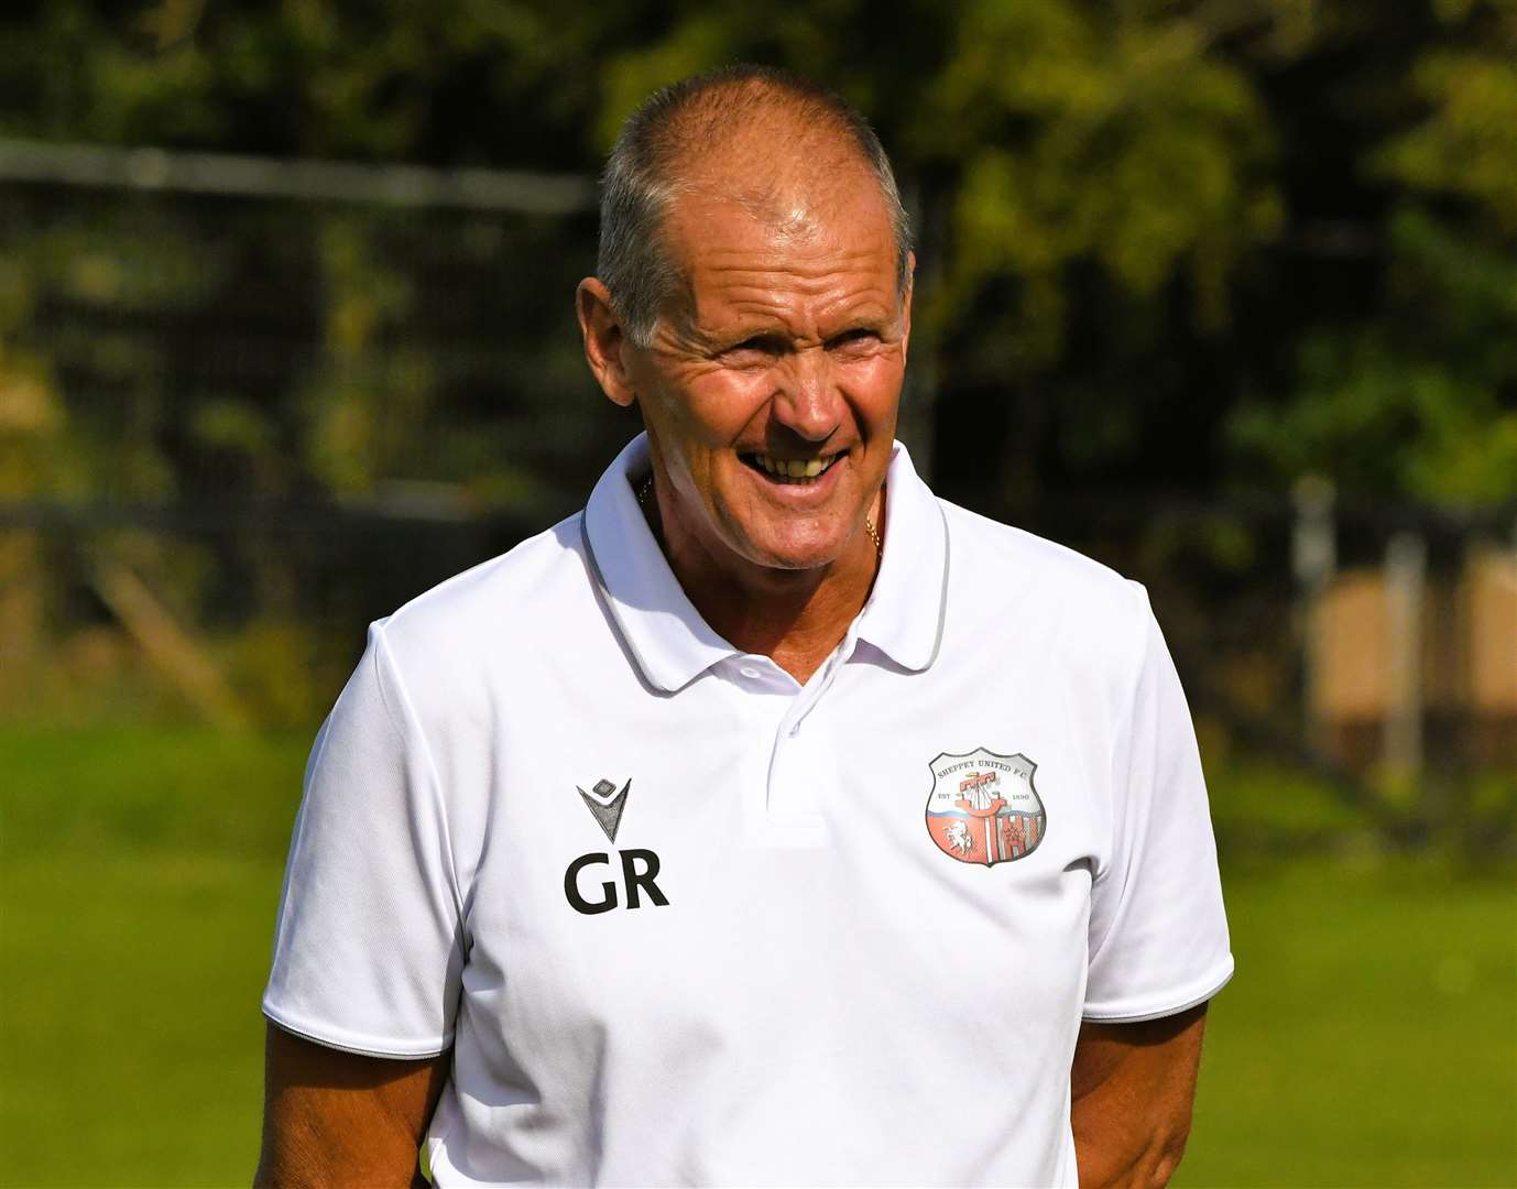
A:
[[[1147,598],[1144,619],[1130,708],[1113,736],[1110,861],[1091,889],[1092,1021],[1183,1012],[1233,971],[1195,729]]]

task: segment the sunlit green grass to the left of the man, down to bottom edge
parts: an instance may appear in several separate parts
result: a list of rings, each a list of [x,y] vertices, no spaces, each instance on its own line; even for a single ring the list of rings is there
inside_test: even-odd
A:
[[[0,1184],[247,1184],[306,746],[0,731]]]

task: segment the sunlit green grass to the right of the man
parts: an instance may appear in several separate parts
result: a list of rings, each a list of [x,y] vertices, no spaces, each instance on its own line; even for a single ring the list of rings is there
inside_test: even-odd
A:
[[[1517,1184],[1517,892],[1438,864],[1227,881],[1177,1186]]]

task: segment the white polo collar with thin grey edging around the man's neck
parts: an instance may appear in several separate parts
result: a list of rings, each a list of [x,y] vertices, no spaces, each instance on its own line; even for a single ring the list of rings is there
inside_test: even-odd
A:
[[[639,434],[607,467],[581,517],[586,554],[611,619],[646,681],[681,690],[740,655],[701,617],[637,507],[648,473]],[[884,557],[854,632],[912,672],[938,658],[948,593],[948,528],[936,496],[897,441],[886,472]]]

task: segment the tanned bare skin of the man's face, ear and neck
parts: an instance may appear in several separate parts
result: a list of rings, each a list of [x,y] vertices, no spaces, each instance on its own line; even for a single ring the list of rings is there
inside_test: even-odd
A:
[[[586,355],[607,396],[637,403],[657,526],[675,575],[739,648],[798,679],[827,657],[874,581],[865,517],[883,523],[910,340],[889,212],[868,168],[836,147],[787,158],[742,190],[730,153],[698,171],[666,223],[684,284],[636,346],[605,287],[579,287]],[[755,455],[828,463],[775,481]]]

